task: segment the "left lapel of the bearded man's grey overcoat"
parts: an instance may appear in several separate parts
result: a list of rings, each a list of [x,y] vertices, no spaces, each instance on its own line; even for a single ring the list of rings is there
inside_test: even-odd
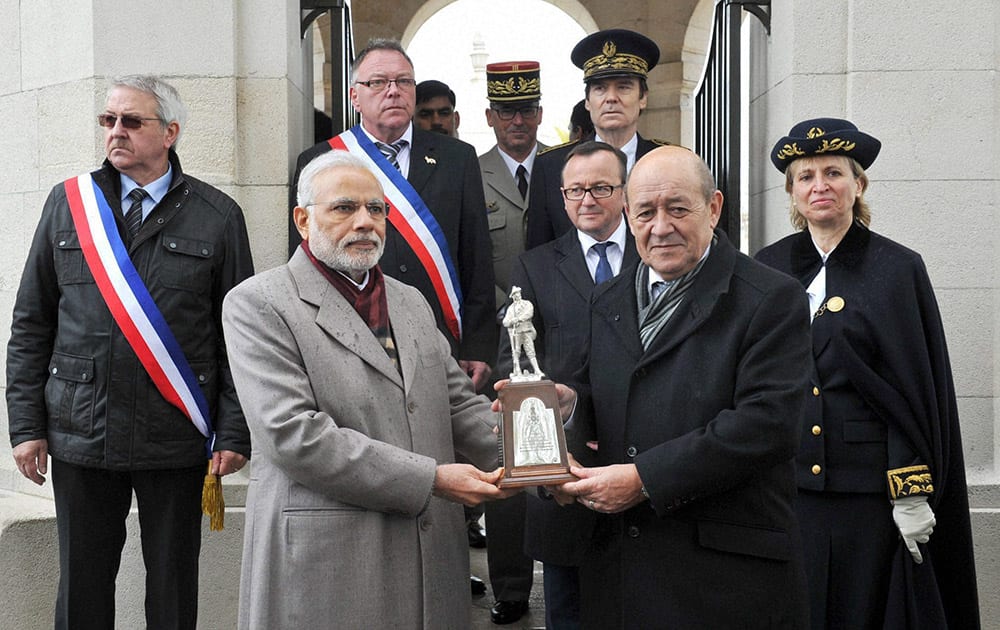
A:
[[[288,261],[288,267],[299,287],[299,297],[319,309],[316,313],[316,325],[349,352],[358,355],[365,363],[402,387],[399,372],[368,325],[340,291],[313,266],[301,249],[296,250]]]

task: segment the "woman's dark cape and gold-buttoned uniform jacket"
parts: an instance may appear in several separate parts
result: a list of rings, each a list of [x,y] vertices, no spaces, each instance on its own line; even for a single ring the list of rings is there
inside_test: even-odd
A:
[[[808,231],[764,248],[757,259],[803,288],[822,265]],[[927,465],[937,526],[922,565],[909,562],[900,541],[892,582],[899,588],[888,609],[901,613],[904,600],[919,600],[915,610],[925,617],[936,606],[948,627],[978,627],[958,408],[923,260],[854,223],[827,259],[826,283],[827,300],[839,296],[844,307],[827,308],[812,323],[815,367],[796,462],[799,486],[885,493],[888,501],[888,470]]]

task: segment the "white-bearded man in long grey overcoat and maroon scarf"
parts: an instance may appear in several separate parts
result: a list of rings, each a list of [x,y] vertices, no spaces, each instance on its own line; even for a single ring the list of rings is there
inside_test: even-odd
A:
[[[315,158],[302,245],[225,301],[253,443],[240,628],[468,628],[459,504],[510,492],[489,401],[420,293],[377,265],[390,209],[369,168]]]

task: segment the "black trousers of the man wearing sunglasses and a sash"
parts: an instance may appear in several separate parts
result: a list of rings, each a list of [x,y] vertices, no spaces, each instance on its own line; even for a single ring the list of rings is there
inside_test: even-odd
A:
[[[51,461],[59,532],[56,630],[114,629],[115,579],[133,491],[146,566],[146,627],[195,628],[205,467],[113,471]]]

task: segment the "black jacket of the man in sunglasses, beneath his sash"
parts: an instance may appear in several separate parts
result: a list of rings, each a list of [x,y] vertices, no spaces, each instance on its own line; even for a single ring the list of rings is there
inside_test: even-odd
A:
[[[253,274],[243,212],[181,171],[128,246],[136,271],[187,358],[209,405],[216,450],[250,454],[249,432],[222,339],[222,298]],[[121,179],[93,172],[120,234]],[[7,346],[12,445],[48,439],[49,453],[93,468],[184,468],[205,461],[205,438],[156,389],[114,322],[83,258],[62,184],[42,209],[14,304]]]

